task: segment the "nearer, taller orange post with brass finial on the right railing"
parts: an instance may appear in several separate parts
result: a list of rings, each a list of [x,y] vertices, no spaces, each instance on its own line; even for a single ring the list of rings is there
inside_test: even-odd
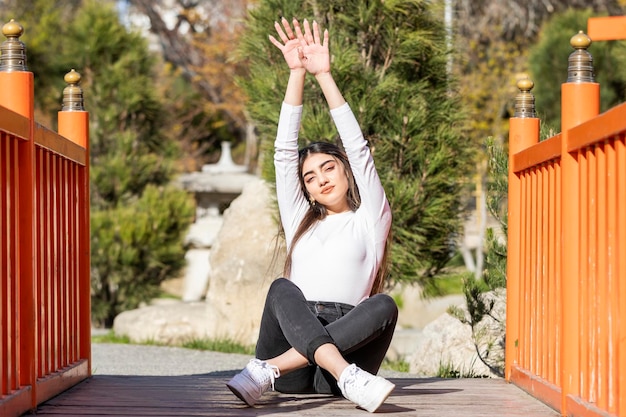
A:
[[[561,85],[562,132],[562,343],[561,384],[562,412],[567,410],[568,395],[581,395],[580,335],[580,178],[578,158],[569,151],[568,130],[600,113],[600,86],[594,82],[593,58],[587,51],[591,39],[582,31],[574,35],[570,44],[575,49],[569,56],[567,82]]]

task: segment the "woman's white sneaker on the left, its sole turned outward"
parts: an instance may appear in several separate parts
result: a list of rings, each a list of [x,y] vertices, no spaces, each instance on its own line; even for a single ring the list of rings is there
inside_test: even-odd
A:
[[[274,380],[280,376],[278,367],[251,359],[243,371],[235,375],[226,386],[246,404],[254,405],[268,389],[274,390]]]

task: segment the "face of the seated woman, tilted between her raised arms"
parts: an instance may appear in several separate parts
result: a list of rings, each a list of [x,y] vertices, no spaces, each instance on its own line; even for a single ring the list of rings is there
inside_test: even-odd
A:
[[[302,179],[309,195],[325,206],[328,214],[350,210],[346,170],[334,156],[309,154],[302,164]]]

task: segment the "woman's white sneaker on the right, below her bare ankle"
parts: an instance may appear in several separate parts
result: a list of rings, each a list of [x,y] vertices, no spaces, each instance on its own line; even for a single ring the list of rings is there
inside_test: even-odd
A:
[[[395,385],[351,364],[341,373],[339,388],[348,400],[373,413],[389,397]]]

